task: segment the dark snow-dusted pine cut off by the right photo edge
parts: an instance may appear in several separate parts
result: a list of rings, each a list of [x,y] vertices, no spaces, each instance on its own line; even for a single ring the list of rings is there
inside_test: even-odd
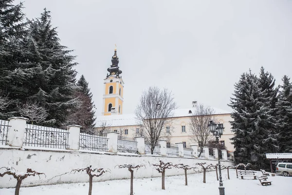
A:
[[[292,153],[292,83],[288,76],[282,78],[278,102],[276,103],[279,123],[279,152]]]

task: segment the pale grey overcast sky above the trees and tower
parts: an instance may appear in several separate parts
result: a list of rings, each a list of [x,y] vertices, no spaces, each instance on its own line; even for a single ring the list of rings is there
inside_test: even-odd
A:
[[[19,2],[17,0],[16,2]],[[101,115],[103,79],[117,44],[124,114],[149,86],[227,106],[240,74],[261,66],[277,84],[292,76],[292,0],[25,0],[29,19],[51,11],[61,44],[73,49]]]

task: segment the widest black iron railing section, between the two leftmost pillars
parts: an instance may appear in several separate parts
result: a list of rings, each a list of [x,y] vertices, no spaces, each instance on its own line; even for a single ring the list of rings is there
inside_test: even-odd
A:
[[[23,145],[45,148],[68,148],[69,132],[64,129],[26,124]]]

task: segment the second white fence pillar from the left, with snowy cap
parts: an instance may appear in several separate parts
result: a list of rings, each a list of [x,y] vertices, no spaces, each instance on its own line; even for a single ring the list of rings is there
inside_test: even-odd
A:
[[[79,150],[80,125],[69,125],[66,127],[69,132],[68,150]]]

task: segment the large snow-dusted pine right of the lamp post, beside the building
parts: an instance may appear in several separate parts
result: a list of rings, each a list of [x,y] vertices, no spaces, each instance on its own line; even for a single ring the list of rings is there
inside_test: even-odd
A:
[[[234,98],[229,106],[233,109],[231,122],[237,163],[253,162],[255,169],[269,168],[265,153],[276,152],[277,140],[270,128],[271,116],[265,106],[255,74],[243,73],[235,84]]]

